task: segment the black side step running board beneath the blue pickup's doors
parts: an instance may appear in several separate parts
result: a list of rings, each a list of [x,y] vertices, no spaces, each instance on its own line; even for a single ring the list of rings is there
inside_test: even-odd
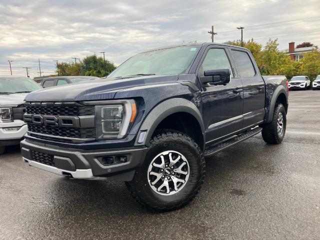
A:
[[[235,135],[234,137],[232,138],[229,138],[227,140],[224,140],[224,141],[220,141],[208,148],[206,148],[204,150],[204,156],[209,156],[209,155],[212,155],[218,151],[221,151],[229,146],[232,146],[240,141],[243,141],[251,136],[254,136],[256,134],[258,134],[260,131],[262,130],[261,127],[255,127],[253,129],[250,129],[250,130],[246,130],[238,135]]]

